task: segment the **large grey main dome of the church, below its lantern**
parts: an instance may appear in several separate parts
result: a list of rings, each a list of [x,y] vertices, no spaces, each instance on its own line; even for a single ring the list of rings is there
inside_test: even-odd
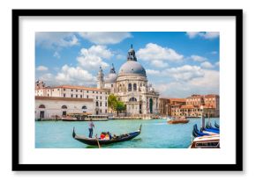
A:
[[[119,69],[119,75],[136,74],[147,76],[146,70],[138,61],[126,61]]]

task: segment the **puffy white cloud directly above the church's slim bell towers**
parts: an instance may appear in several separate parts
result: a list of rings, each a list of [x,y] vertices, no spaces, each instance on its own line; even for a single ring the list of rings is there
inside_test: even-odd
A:
[[[83,68],[96,69],[100,66],[102,66],[102,68],[106,68],[109,64],[102,59],[109,59],[112,56],[113,54],[109,49],[107,49],[107,47],[98,45],[92,46],[88,49],[82,48],[77,60]]]

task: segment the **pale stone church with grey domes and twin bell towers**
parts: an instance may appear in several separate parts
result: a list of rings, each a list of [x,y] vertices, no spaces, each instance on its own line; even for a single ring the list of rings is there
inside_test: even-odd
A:
[[[159,93],[147,84],[145,68],[137,61],[135,51],[131,48],[127,61],[119,69],[118,74],[112,64],[109,74],[104,78],[102,68],[97,77],[98,89],[109,89],[117,98],[126,104],[128,116],[157,113]]]

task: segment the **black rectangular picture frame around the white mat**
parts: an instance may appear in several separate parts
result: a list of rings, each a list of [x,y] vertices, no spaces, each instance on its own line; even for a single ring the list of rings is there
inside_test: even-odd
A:
[[[180,16],[236,18],[235,164],[21,164],[19,163],[19,17]],[[12,10],[12,170],[14,171],[241,171],[243,170],[243,10]],[[108,167],[108,169],[106,169]]]

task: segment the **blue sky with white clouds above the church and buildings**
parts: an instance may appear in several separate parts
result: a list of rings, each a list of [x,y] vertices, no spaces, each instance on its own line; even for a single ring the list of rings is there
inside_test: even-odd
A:
[[[133,45],[161,97],[219,94],[218,32],[36,32],[35,77],[92,87],[100,66],[118,72]]]

